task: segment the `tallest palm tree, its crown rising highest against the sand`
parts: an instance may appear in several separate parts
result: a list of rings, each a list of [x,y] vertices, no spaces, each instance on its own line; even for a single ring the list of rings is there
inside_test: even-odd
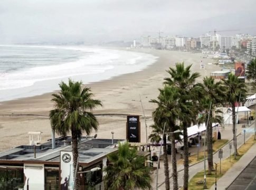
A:
[[[200,77],[198,72],[191,74],[191,66],[188,65],[186,68],[183,63],[176,63],[175,68],[169,68],[167,71],[170,74],[170,78],[165,78],[164,84],[169,86],[177,87],[178,92],[181,94],[179,98],[182,113],[184,117],[181,119],[183,126],[183,143],[184,143],[184,190],[188,189],[188,136],[187,127],[191,126],[192,121],[197,115],[194,107],[197,103],[200,92],[202,92],[202,87],[196,83],[196,79]]]

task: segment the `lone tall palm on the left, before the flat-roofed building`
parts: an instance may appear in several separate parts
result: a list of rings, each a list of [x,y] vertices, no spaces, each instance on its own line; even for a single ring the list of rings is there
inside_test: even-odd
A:
[[[82,89],[82,82],[73,82],[69,79],[66,84],[59,84],[59,94],[52,94],[55,108],[50,111],[51,127],[57,134],[66,136],[71,132],[73,168],[77,166],[78,140],[82,133],[90,134],[92,130],[98,129],[98,121],[92,111],[97,106],[102,106],[100,100],[92,99],[90,88]],[[73,173],[75,169],[73,170]],[[74,175],[75,176],[75,175]],[[75,189],[80,189],[79,178],[75,180]]]

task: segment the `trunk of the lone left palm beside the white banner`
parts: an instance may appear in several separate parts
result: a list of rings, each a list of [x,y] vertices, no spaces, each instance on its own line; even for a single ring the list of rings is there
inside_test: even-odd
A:
[[[78,161],[78,136],[75,132],[75,130],[71,130],[72,134],[72,154],[73,154],[73,176],[75,176],[75,168],[77,167],[77,161]],[[76,180],[74,181],[74,189],[80,190],[80,179],[77,175]]]

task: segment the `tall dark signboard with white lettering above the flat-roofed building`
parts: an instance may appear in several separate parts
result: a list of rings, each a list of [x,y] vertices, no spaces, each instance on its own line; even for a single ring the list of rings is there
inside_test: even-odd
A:
[[[127,116],[126,139],[131,143],[140,143],[139,116]]]

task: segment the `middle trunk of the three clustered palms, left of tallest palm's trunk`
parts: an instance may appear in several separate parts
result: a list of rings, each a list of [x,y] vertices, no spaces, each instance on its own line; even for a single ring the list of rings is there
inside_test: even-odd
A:
[[[173,131],[172,131],[173,132]],[[175,135],[170,134],[172,139],[172,166],[173,166],[173,190],[178,190],[178,173],[177,173],[177,161],[176,161],[176,149],[175,149]]]

